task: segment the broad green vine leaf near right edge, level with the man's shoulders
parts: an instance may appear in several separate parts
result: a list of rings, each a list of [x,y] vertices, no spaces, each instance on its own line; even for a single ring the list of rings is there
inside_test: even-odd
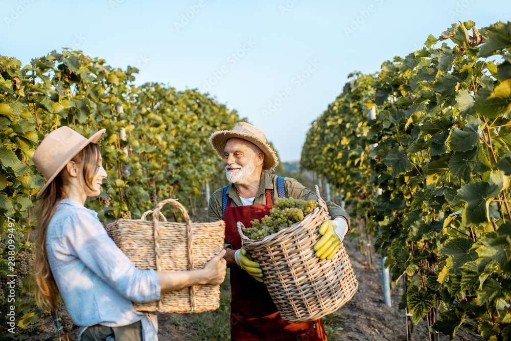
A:
[[[478,181],[463,185],[456,197],[467,204],[461,214],[461,224],[477,226],[490,221],[490,202],[500,193],[497,185]]]

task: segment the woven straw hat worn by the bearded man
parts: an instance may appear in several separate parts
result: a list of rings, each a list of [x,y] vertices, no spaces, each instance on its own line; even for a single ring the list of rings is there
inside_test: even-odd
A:
[[[246,140],[261,149],[264,153],[263,169],[272,171],[278,165],[277,155],[266,143],[264,132],[246,122],[236,123],[233,130],[220,130],[211,134],[210,143],[222,159],[227,140],[233,138]]]

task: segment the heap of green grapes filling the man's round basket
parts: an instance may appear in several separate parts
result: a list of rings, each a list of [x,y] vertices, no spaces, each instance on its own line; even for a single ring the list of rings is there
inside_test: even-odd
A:
[[[252,240],[263,239],[304,220],[304,217],[314,211],[316,207],[317,202],[314,200],[278,198],[274,202],[274,208],[270,210],[270,215],[265,215],[261,221],[259,219],[250,221],[252,227],[246,229],[245,234]]]

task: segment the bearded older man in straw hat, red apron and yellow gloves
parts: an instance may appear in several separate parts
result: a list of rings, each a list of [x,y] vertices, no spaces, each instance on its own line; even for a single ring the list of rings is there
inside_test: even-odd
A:
[[[269,174],[278,164],[275,152],[257,127],[239,122],[233,130],[217,131],[210,143],[223,158],[231,185],[216,190],[210,198],[208,221],[225,221],[225,242],[232,245],[224,258],[230,267],[231,340],[327,340],[321,320],[288,323],[282,319],[262,283],[262,270],[241,247],[236,223],[270,215],[273,200],[292,197],[316,200],[316,195],[295,179]],[[330,259],[347,233],[349,216],[339,206],[327,202],[333,221],[324,222],[323,236],[314,246],[315,256]]]

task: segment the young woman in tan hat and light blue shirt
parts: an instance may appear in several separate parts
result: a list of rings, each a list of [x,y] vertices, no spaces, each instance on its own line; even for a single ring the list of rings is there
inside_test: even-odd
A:
[[[38,302],[57,307],[60,292],[79,339],[157,340],[155,315],[135,311],[134,302],[198,284],[220,284],[225,251],[201,270],[138,270],[107,235],[96,212],[83,205],[98,196],[106,172],[96,142],[63,126],[47,135],[32,158],[48,180],[38,193],[36,282]]]

